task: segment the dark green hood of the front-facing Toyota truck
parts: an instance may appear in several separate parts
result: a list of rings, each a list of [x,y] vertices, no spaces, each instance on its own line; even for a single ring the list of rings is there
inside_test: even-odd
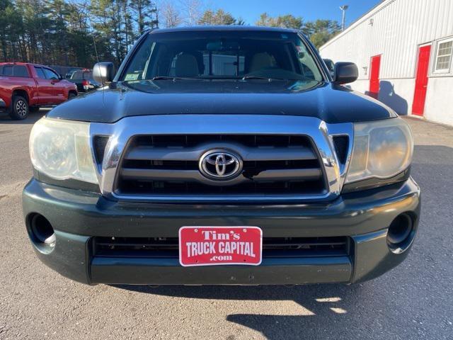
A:
[[[317,81],[158,80],[113,83],[54,108],[48,117],[115,123],[132,115],[304,115],[326,123],[392,118],[369,96]]]

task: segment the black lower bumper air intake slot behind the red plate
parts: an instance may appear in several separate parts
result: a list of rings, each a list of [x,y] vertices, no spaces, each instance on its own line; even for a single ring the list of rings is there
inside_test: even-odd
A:
[[[95,256],[178,258],[178,238],[94,237]],[[263,237],[263,259],[347,256],[348,237]]]

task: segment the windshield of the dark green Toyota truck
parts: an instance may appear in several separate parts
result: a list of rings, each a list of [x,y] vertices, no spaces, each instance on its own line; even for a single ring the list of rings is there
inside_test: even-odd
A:
[[[322,81],[297,33],[193,30],[149,33],[123,81],[165,79],[282,79]]]

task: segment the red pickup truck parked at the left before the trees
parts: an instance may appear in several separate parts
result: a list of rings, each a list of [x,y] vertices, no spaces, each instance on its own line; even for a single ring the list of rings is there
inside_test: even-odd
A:
[[[52,106],[77,96],[77,87],[47,66],[24,62],[0,63],[0,111],[22,120],[40,106]]]

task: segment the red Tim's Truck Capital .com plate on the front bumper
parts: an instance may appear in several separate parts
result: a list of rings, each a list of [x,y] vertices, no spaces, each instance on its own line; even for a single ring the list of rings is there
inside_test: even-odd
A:
[[[261,263],[263,232],[258,227],[181,227],[181,266]]]

